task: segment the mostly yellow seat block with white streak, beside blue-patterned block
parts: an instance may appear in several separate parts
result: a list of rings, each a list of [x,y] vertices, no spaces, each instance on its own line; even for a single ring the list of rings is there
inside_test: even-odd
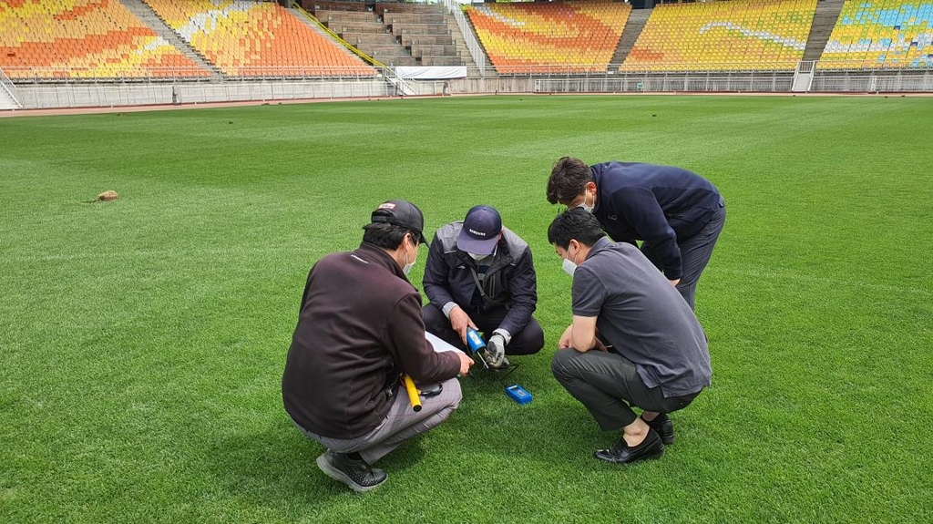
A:
[[[621,71],[793,70],[816,0],[729,0],[655,7]]]

